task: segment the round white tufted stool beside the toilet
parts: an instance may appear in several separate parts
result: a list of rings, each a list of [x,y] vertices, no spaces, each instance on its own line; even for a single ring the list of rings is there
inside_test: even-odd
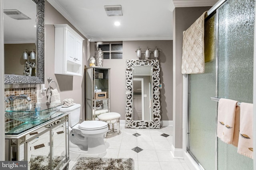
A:
[[[117,124],[117,134],[119,134],[120,117],[121,117],[121,115],[116,112],[102,113],[102,114],[98,115],[99,120],[106,121],[108,123],[108,129],[110,129],[110,124],[112,124],[113,132],[114,132],[114,123],[116,123]]]

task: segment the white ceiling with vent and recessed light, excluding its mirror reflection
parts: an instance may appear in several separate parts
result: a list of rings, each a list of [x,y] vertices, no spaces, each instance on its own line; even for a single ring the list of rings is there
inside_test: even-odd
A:
[[[213,6],[217,0],[47,1],[89,41],[125,41],[172,40],[174,7]],[[121,5],[123,16],[107,16],[105,5]]]

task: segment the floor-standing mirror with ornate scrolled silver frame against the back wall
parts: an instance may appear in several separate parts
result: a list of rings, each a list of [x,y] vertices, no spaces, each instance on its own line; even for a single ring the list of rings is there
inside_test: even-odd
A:
[[[126,60],[126,128],[160,129],[159,74],[159,60]]]

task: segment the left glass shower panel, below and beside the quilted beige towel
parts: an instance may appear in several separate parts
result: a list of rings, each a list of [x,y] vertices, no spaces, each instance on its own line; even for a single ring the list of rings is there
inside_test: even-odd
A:
[[[215,169],[216,157],[216,15],[205,21],[205,70],[190,75],[188,152],[206,170]]]

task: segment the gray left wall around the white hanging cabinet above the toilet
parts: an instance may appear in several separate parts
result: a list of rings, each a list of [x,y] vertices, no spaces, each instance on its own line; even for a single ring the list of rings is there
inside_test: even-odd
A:
[[[66,76],[54,74],[54,24],[68,24],[77,33],[84,37],[75,27],[66,20],[49,2],[45,1],[45,58],[44,58],[44,82],[46,88],[49,87],[48,77],[56,81],[58,84],[58,92],[60,93],[60,100],[66,98],[73,98],[74,103],[81,104],[81,117],[84,119],[84,105],[85,105],[85,75],[84,69],[82,76]],[[84,66],[87,61],[87,39],[84,37],[83,41],[83,63]],[[54,88],[55,85],[51,84]],[[42,102],[46,101],[46,95],[42,96]]]

